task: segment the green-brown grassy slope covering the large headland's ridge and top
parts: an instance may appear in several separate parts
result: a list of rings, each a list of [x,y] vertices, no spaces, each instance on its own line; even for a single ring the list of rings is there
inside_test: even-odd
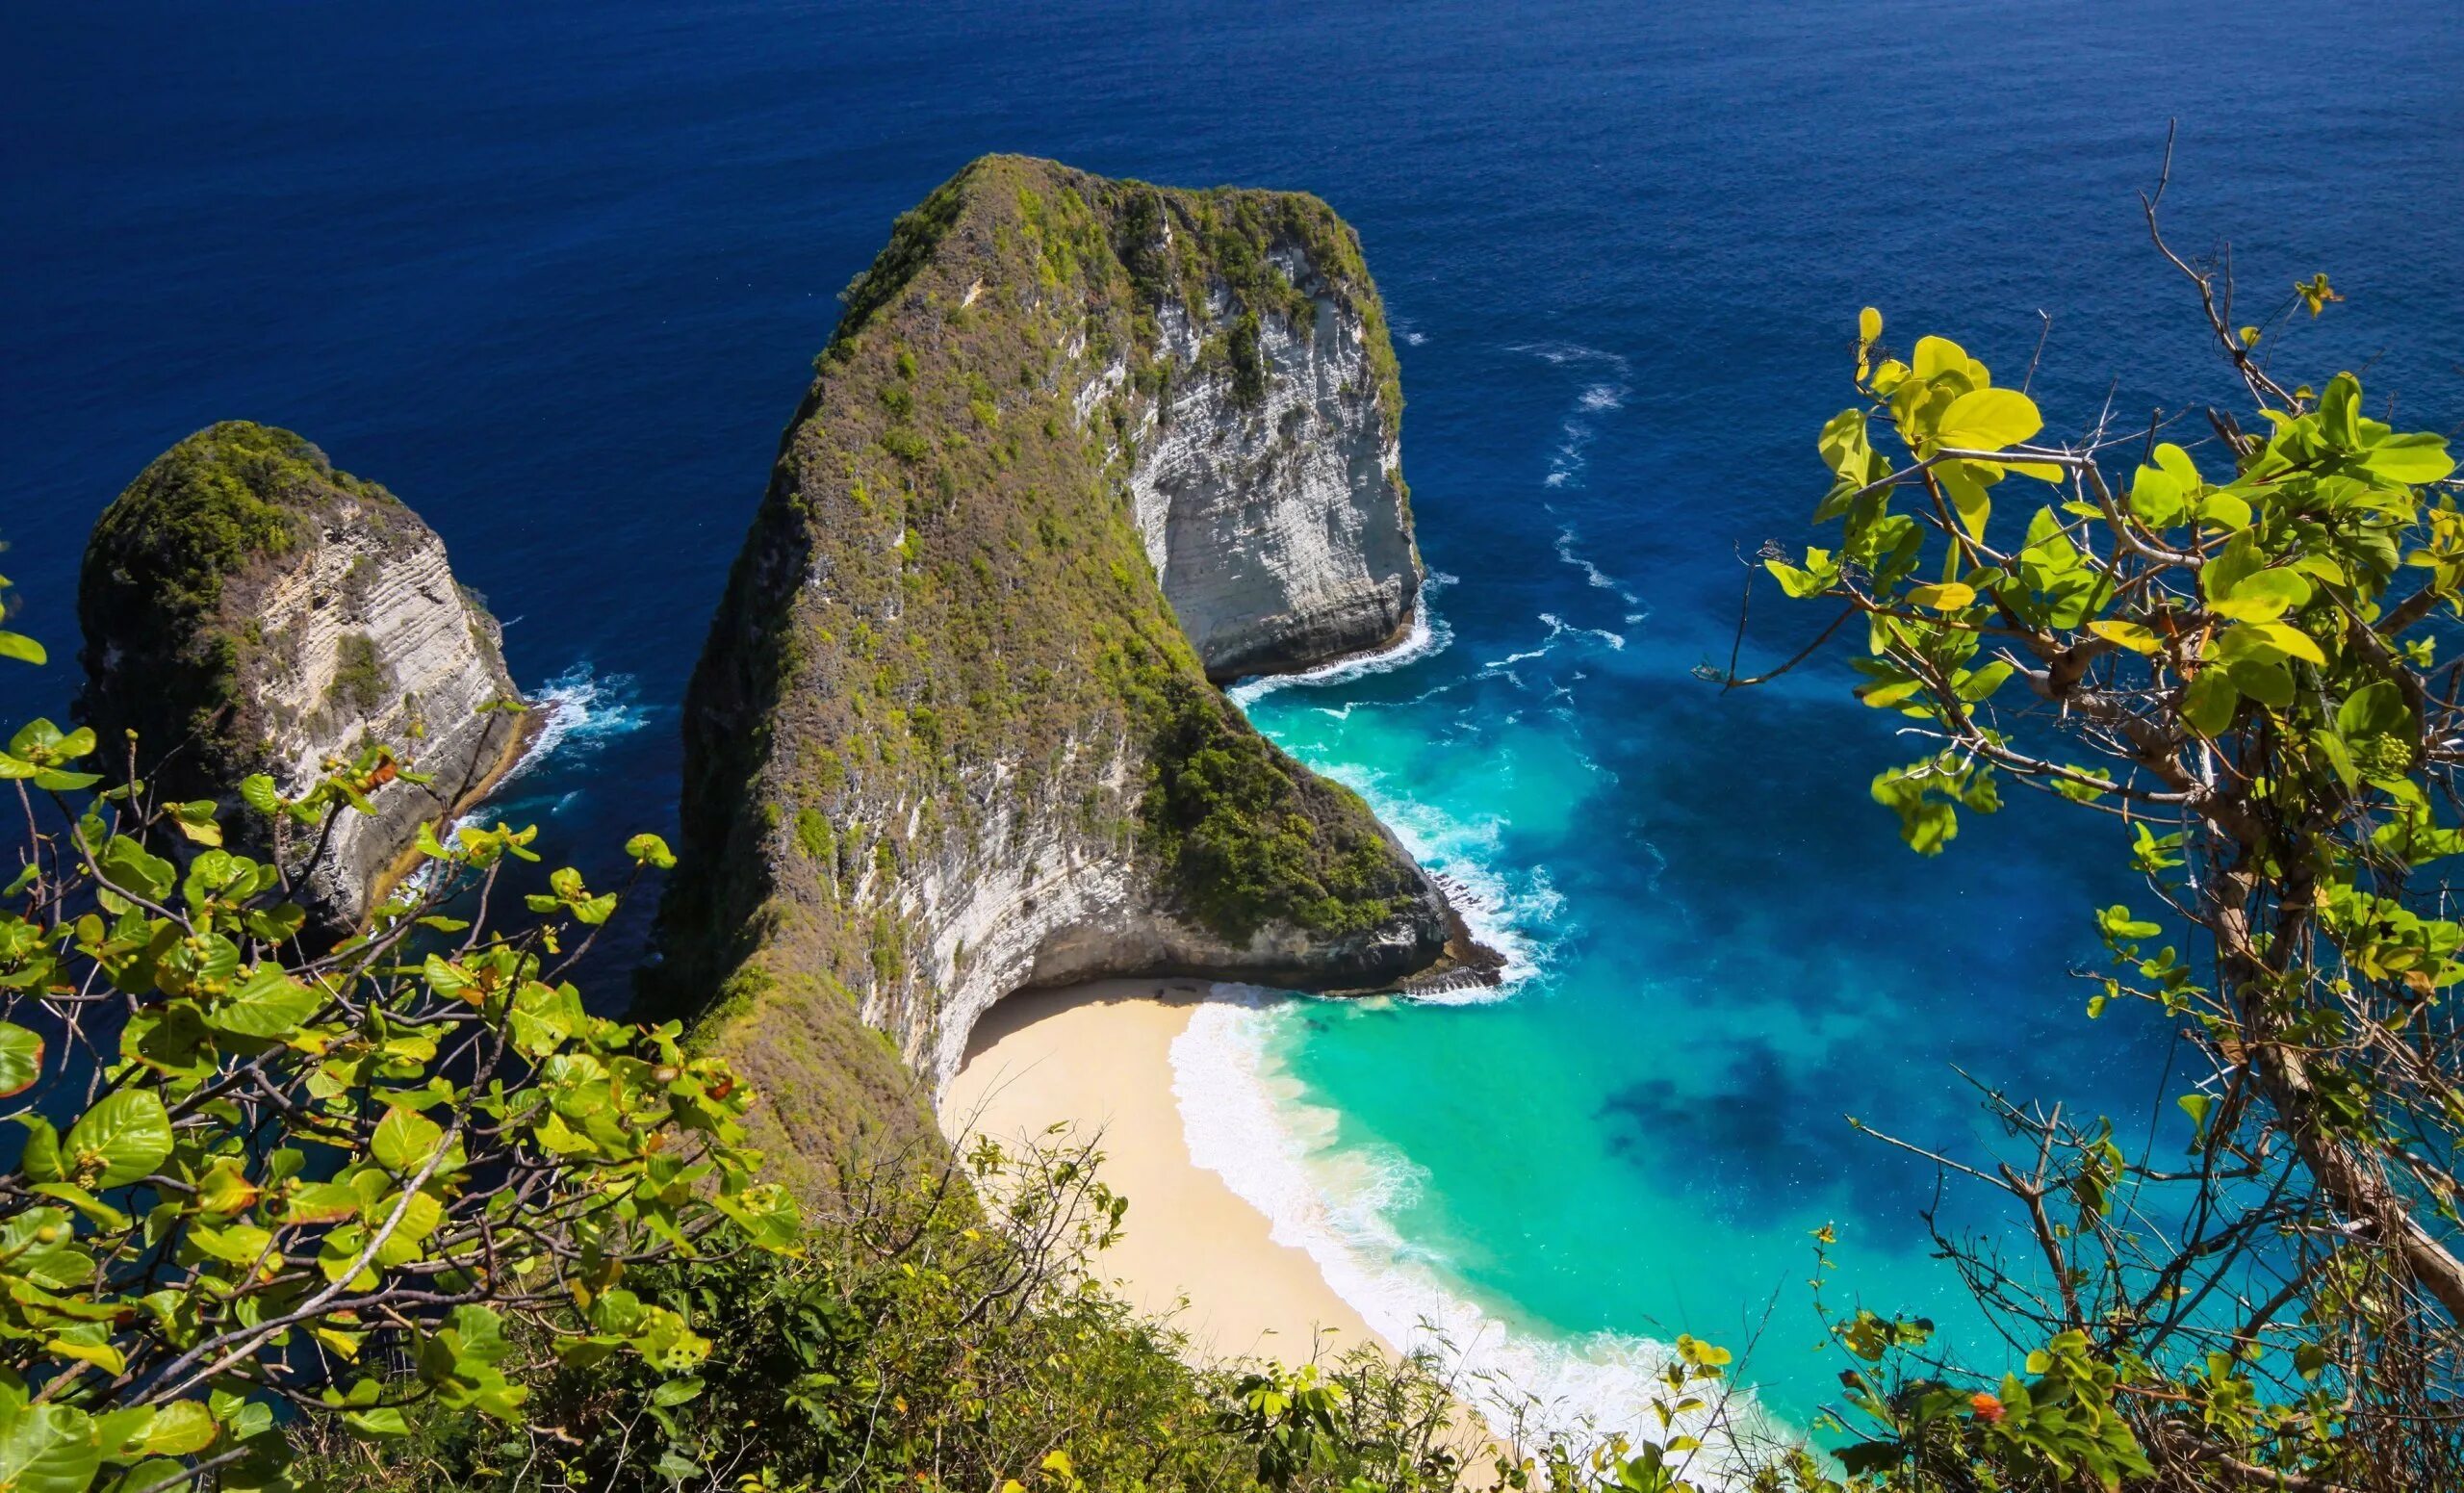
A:
[[[1158,305],[1227,286],[1239,310],[1200,362],[1254,389],[1254,318],[1303,303],[1266,264],[1279,239],[1365,315],[1397,416],[1358,244],[1313,197],[986,158],[848,288],[687,697],[687,862],[648,985],[707,1010],[702,1040],[752,1069],[793,1175],[929,1146],[912,1079],[855,1010],[870,993],[892,1020],[931,1018],[892,892],[973,845],[995,793],[1131,845],[1183,916],[1234,941],[1266,919],[1372,926],[1412,887],[1355,796],[1205,682],[1129,510],[1136,419],[1170,377]],[[1129,379],[1079,426],[1072,397],[1111,360]],[[1101,779],[1124,742],[1148,781]]]

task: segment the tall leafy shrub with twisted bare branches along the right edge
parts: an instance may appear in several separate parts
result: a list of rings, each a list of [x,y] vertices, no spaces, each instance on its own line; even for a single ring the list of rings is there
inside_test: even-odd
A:
[[[1915,850],[2011,786],[2112,823],[2146,902],[2094,914],[2087,1015],[2146,1003],[2181,1035],[2186,1148],[1993,1096],[2013,1163],[1939,1158],[2011,1200],[2023,1247],[1942,1244],[2045,1348],[1971,1387],[1919,1365],[1924,1325],[1843,1321],[1870,1431],[1846,1461],[1924,1488],[2457,1488],[2457,468],[2351,372],[2269,370],[2326,276],[2235,325],[2230,278],[2156,244],[2247,409],[2050,441],[1964,347],[1895,357],[1865,310],[1858,404],[1818,441],[1838,537],[1767,557],[1836,609],[1826,638],[1863,626],[1858,695],[1927,742],[1873,781]]]

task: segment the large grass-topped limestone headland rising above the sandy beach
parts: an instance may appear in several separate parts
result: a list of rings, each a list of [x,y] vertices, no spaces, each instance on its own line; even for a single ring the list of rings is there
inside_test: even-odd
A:
[[[986,158],[845,301],[687,695],[650,978],[717,1000],[793,1153],[929,1133],[907,1067],[939,1086],[1020,985],[1469,958],[1368,808],[1207,682],[1417,604],[1353,232]]]

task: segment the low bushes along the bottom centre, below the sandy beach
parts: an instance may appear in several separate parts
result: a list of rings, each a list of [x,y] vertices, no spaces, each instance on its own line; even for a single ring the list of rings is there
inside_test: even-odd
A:
[[[641,1271],[636,1286],[712,1338],[690,1377],[638,1362],[554,1367],[527,1429],[439,1414],[407,1446],[313,1436],[342,1491],[485,1488],[806,1493],[1274,1491],[1710,1493],[1695,1439],[1530,1434],[1542,1407],[1471,1417],[1493,1385],[1434,1353],[1306,1345],[1306,1362],[1193,1367],[1190,1340],[1101,1284],[1126,1200],[1092,1143],[978,1141],[941,1170],[885,1168],[816,1217],[796,1254]],[[890,1180],[894,1178],[894,1183]],[[1725,1424],[1727,1353],[1685,1338],[1661,1394]],[[1301,1348],[1301,1345],[1296,1345]],[[1784,1486],[1784,1468],[1757,1483]]]

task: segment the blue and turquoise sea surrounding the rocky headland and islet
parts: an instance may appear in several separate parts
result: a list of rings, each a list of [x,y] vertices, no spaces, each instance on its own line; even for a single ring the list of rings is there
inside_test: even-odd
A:
[[[1742,557],[1804,540],[1860,305],[2006,382],[2043,313],[2055,434],[2230,397],[2139,217],[2171,118],[2173,239],[2230,239],[2250,310],[2346,293],[2279,367],[2457,429],[2452,2],[12,5],[0,569],[54,663],[0,673],[0,717],[74,692],[76,554],[128,478],[283,424],[444,532],[569,705],[500,811],[609,867],[673,828],[705,621],[894,214],[988,150],[1306,187],[1385,291],[1439,586],[1414,658],[1247,702],[1528,976],[1217,1040],[1271,1077],[1355,1291],[1469,1303],[1587,1402],[1678,1330],[1754,1343],[1799,1417],[1838,1367],[1826,1220],[1843,1301],[1986,1343],[1929,1168],[1843,1116],[1974,1148],[1961,1072],[2171,1114],[2166,1042],[2067,976],[2119,840],[2020,803],[1917,860],[1865,801],[1905,749],[1836,663],[1690,670],[1730,655]],[[1764,586],[1745,663],[1816,621]],[[1993,1227],[1956,1192],[1942,1220]]]

